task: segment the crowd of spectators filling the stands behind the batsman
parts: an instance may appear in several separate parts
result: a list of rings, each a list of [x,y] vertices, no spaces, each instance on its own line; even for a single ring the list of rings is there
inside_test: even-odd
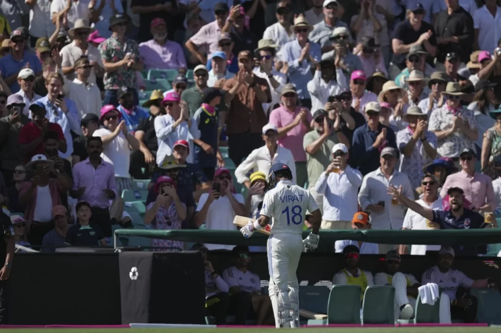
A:
[[[19,245],[107,245],[114,228],[137,225],[234,229],[235,215],[259,216],[277,162],[314,195],[323,229],[497,227],[496,0],[9,0],[1,8],[0,216]],[[138,179],[150,181],[138,189]],[[391,260],[440,248],[321,246]],[[224,283],[206,267],[215,280],[207,295],[258,292],[234,282],[244,263],[223,272]],[[259,322],[273,319],[265,298],[252,304]]]

